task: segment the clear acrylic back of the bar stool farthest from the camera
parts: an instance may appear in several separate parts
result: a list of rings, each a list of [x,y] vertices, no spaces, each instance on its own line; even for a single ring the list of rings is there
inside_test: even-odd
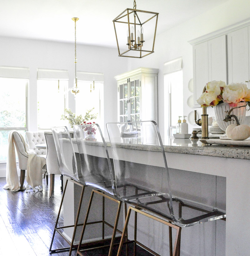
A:
[[[75,149],[69,134],[68,128],[63,127],[51,127],[53,138],[55,141],[58,167],[60,172],[78,182],[83,182],[79,179],[78,175],[78,162],[75,154]]]

